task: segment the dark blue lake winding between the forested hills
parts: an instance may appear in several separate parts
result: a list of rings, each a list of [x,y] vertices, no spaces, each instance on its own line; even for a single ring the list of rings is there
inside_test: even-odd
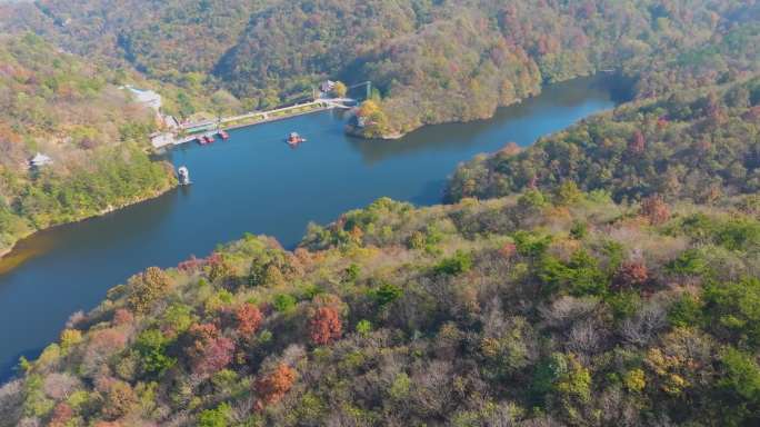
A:
[[[528,146],[612,108],[623,100],[616,83],[604,76],[549,86],[492,119],[426,127],[393,141],[347,137],[342,115],[328,111],[176,148],[168,158],[189,168],[192,186],[37,234],[0,261],[0,381],[20,356],[37,357],[56,340],[72,312],[93,308],[146,267],[206,256],[244,232],[293,248],[309,221],[330,222],[383,196],[440,202],[459,162],[509,141]],[[290,148],[290,131],[308,141]]]

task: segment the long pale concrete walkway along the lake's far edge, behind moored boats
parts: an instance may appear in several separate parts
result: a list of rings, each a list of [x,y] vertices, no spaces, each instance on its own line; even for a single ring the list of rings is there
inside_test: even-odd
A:
[[[203,120],[190,123],[182,123],[178,132],[166,132],[151,138],[154,148],[168,146],[179,146],[190,142],[199,135],[213,133],[220,129],[237,129],[248,126],[268,123],[270,121],[283,120],[296,116],[309,115],[313,112],[331,109],[349,109],[356,105],[351,98],[323,98],[313,101],[296,103],[288,107],[276,108],[267,111],[251,111],[238,116],[221,117],[217,120]]]

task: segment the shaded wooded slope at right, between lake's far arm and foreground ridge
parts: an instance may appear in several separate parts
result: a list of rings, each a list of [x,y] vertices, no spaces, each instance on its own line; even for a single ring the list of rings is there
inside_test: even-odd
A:
[[[460,167],[448,198],[498,197],[567,180],[617,199],[710,203],[760,190],[760,79],[623,105],[519,152]]]

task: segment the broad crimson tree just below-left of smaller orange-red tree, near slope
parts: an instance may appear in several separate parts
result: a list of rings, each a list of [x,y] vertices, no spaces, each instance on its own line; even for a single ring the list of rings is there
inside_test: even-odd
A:
[[[188,331],[192,339],[187,350],[194,374],[208,376],[232,361],[234,342],[221,335],[213,324],[193,325]]]

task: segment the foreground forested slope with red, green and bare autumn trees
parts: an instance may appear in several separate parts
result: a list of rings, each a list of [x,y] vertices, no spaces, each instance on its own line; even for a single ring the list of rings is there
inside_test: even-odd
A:
[[[568,185],[250,236],[72,317],[0,425],[757,425],[744,206]]]

